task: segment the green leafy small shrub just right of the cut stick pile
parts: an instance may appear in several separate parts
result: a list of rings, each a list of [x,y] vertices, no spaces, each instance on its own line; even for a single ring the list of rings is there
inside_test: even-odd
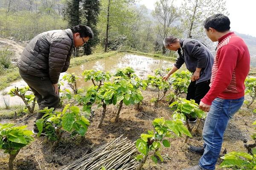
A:
[[[140,153],[142,153],[142,155],[138,155],[136,157],[137,160],[141,160],[143,156],[148,156],[150,151],[154,151],[151,159],[157,163],[157,156],[161,161],[163,161],[163,157],[160,154],[162,145],[164,147],[171,147],[170,142],[166,138],[174,138],[174,134],[177,136],[181,136],[182,134],[191,136],[189,130],[183,125],[180,119],[154,119],[152,125],[154,130],[148,130],[147,134],[141,134],[140,139],[137,139],[136,141],[136,147]]]

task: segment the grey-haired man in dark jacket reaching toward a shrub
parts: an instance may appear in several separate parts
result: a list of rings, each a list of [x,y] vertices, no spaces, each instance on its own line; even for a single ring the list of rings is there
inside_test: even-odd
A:
[[[193,73],[186,99],[194,99],[199,105],[201,99],[210,89],[209,84],[214,62],[211,52],[204,44],[190,38],[179,40],[176,37],[169,36],[163,40],[163,44],[165,48],[177,51],[179,54],[174,67],[163,79],[167,80],[185,62],[186,68]],[[189,122],[195,121],[195,118],[189,118]]]

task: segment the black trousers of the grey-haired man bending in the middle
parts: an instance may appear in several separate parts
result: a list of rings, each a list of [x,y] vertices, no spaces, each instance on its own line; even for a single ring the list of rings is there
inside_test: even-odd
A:
[[[210,80],[204,81],[204,82],[199,82],[195,84],[196,81],[190,82],[189,87],[188,87],[188,93],[186,96],[187,100],[194,99],[195,102],[199,105],[201,99],[204,98],[204,96],[208,93],[210,90]],[[193,118],[188,118],[190,121],[195,120]]]

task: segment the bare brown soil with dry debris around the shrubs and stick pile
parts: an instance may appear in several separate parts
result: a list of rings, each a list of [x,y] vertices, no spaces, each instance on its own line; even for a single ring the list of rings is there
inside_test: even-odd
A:
[[[106,117],[102,124],[102,128],[98,129],[102,109],[95,110],[93,122],[88,128],[87,134],[84,137],[75,136],[71,138],[68,133],[64,134],[59,146],[54,152],[51,152],[52,143],[47,141],[46,137],[35,136],[35,141],[20,150],[15,160],[15,170],[58,170],[59,168],[79,159],[87,150],[95,150],[97,147],[105,144],[122,134],[128,137],[131,141],[136,141],[140,138],[141,133],[146,133],[147,130],[152,129],[151,122],[155,118],[164,117],[165,119],[172,119],[172,112],[168,108],[167,102],[160,102],[158,107],[152,106],[150,99],[156,94],[155,91],[143,91],[142,110],[137,111],[135,106],[123,106],[119,122],[115,123],[115,106],[108,106]],[[251,108],[255,108],[255,103]],[[21,118],[21,120],[24,118]],[[27,121],[19,125],[28,125],[28,129],[32,130],[35,116],[32,116]],[[244,151],[243,139],[250,139],[250,135],[255,132],[252,125],[255,116],[252,109],[246,109],[245,106],[235,114],[230,121],[227,130],[224,134],[224,143],[222,150],[227,149],[231,151]],[[20,120],[5,120],[2,122],[19,122]],[[202,146],[202,129],[204,122],[201,123],[199,132],[188,140],[188,144]],[[170,139],[171,147],[163,148],[161,153],[164,161],[154,164],[148,159],[143,166],[143,170],[182,170],[190,165],[195,165],[200,159],[200,155],[191,153],[187,150],[188,144],[183,144],[185,136],[175,139]],[[94,146],[91,148],[92,144]],[[7,170],[8,155],[0,151],[0,169]],[[221,159],[218,160],[216,170],[220,168],[218,165]]]

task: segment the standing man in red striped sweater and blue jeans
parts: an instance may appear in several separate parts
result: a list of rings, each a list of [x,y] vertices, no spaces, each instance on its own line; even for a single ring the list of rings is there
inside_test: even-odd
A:
[[[244,102],[244,80],[250,70],[250,54],[245,42],[230,31],[230,20],[215,14],[204,21],[210,40],[218,41],[210,90],[199,108],[209,112],[204,124],[204,148],[199,164],[185,170],[214,170],[221,152],[223,134],[229,120]],[[196,147],[194,147],[195,150]],[[196,150],[195,150],[196,151]]]

